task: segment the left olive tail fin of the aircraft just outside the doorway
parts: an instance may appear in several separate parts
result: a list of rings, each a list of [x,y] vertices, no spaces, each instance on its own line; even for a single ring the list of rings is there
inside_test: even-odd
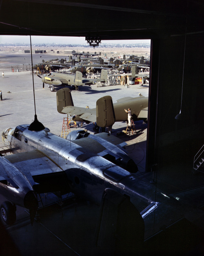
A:
[[[56,93],[57,96],[57,110],[60,114],[62,109],[67,106],[73,106],[73,100],[71,97],[71,90],[69,88],[62,88]]]

